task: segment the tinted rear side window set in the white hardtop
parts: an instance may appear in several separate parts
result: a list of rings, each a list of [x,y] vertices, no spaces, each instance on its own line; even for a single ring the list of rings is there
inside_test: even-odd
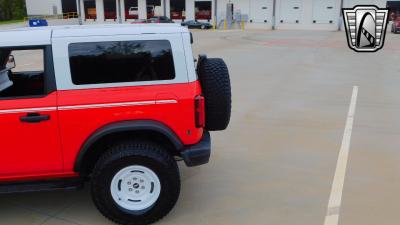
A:
[[[69,45],[69,57],[76,85],[175,78],[167,40],[74,43]]]

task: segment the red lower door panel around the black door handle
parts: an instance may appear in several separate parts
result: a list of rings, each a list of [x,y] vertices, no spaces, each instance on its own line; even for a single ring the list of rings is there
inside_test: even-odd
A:
[[[63,172],[56,103],[56,92],[43,98],[1,101],[0,180]],[[21,122],[27,113],[49,115],[50,120]]]

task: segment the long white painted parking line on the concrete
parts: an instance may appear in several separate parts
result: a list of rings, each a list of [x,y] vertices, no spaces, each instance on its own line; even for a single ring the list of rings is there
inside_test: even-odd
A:
[[[353,87],[353,94],[351,96],[349,112],[347,114],[346,126],[342,139],[342,146],[340,147],[339,157],[336,164],[335,176],[333,178],[331,195],[329,197],[328,210],[325,216],[324,225],[338,225],[340,206],[342,204],[342,193],[344,178],[346,176],[346,167],[349,157],[351,132],[353,130],[354,113],[356,111],[358,95],[358,86]]]

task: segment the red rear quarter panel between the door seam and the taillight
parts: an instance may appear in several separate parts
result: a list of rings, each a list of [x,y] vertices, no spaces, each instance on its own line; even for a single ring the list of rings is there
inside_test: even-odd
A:
[[[171,128],[184,145],[199,142],[203,129],[196,128],[194,120],[194,97],[199,93],[201,88],[198,82],[59,91],[59,120],[65,171],[73,170],[85,140],[97,129],[114,122],[154,120]],[[176,103],[163,103],[164,101]],[[115,103],[123,106],[105,105]],[[99,107],[93,107],[93,104]],[[65,109],[66,106],[82,108]]]

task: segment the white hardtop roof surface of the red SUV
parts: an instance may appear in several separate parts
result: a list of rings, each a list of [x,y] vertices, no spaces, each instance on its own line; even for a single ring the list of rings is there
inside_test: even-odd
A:
[[[52,38],[188,33],[179,24],[104,24],[26,27],[0,31],[0,48],[50,45]]]

